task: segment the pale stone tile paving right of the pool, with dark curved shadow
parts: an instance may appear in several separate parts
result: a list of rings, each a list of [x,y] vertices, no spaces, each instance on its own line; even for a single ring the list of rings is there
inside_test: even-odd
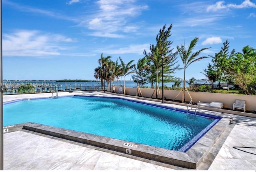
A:
[[[255,123],[236,124],[209,170],[256,170]]]

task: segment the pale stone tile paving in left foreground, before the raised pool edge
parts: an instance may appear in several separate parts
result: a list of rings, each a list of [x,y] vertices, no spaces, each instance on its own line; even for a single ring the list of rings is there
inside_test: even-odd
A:
[[[22,130],[4,134],[4,170],[172,170],[60,140]]]

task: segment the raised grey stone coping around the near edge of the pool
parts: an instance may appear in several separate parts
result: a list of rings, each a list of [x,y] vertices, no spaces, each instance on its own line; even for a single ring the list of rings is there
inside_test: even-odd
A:
[[[39,98],[31,98],[31,100],[32,99],[39,99]],[[28,99],[22,99],[22,100],[28,100]],[[126,99],[126,100],[130,100],[130,99]],[[8,104],[9,102],[6,102],[6,103]],[[149,145],[133,143],[130,141],[123,141],[119,139],[113,139],[110,137],[93,135],[89,133],[82,133],[78,131],[72,131],[69,129],[62,129],[58,127],[42,125],[39,123],[28,122],[28,123],[22,123],[22,124],[17,124],[12,126],[6,126],[5,128],[8,128],[8,132],[26,129],[26,130],[34,131],[37,133],[51,135],[54,137],[59,137],[62,139],[76,141],[79,143],[93,145],[96,147],[102,147],[105,149],[110,149],[113,151],[118,151],[123,153],[127,153],[127,149],[129,149],[130,154],[134,156],[139,156],[142,158],[147,158],[147,159],[155,160],[158,162],[164,162],[164,163],[172,164],[175,166],[182,166],[185,168],[196,169],[198,165],[202,162],[202,160],[206,157],[210,149],[212,149],[212,147],[214,146],[218,138],[227,129],[230,122],[231,120],[227,118],[220,119],[218,123],[216,123],[206,134],[204,134],[186,152],[173,151],[170,149],[153,147]],[[128,146],[125,146],[124,143],[128,143],[130,145],[137,145],[137,147],[136,148],[130,147],[130,146],[128,147]]]

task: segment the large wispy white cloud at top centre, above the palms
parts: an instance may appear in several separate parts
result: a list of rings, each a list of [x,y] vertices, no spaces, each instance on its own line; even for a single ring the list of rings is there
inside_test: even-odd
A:
[[[100,37],[123,37],[121,33],[136,32],[138,23],[129,23],[131,18],[140,15],[148,6],[138,6],[135,0],[98,0],[99,10],[89,20],[80,22]]]

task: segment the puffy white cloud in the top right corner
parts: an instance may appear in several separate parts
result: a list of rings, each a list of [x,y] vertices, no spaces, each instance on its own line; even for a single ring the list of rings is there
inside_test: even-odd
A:
[[[250,0],[244,0],[244,2],[242,2],[242,4],[237,5],[237,4],[227,4],[224,5],[224,1],[218,1],[213,5],[210,5],[206,8],[206,11],[217,11],[217,10],[221,10],[221,9],[229,9],[229,8],[256,8],[256,4],[254,4],[253,2],[251,2]]]

